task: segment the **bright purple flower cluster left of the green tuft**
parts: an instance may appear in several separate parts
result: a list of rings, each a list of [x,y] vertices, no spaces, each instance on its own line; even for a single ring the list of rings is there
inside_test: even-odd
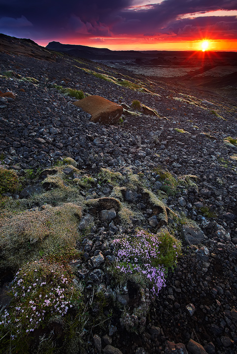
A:
[[[157,235],[138,231],[132,237],[115,239],[117,269],[127,274],[143,275],[150,283],[152,296],[158,295],[165,286],[165,268],[154,266],[153,261],[159,257],[160,241]]]

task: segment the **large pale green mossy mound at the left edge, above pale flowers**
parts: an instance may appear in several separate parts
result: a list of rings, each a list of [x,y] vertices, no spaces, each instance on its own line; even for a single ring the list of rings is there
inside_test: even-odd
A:
[[[0,268],[16,269],[61,250],[75,250],[81,207],[67,203],[42,211],[27,210],[0,219]]]

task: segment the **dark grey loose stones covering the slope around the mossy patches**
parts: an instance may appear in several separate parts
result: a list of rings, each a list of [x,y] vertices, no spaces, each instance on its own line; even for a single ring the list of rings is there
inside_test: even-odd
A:
[[[190,236],[187,230],[175,230],[175,222],[168,218],[174,235],[183,239],[183,256],[174,271],[169,271],[166,287],[151,303],[143,332],[128,332],[114,318],[107,332],[94,330],[90,334],[88,353],[100,352],[102,343],[104,353],[236,354],[237,146],[224,144],[227,137],[237,137],[235,92],[230,87],[207,92],[192,88],[190,83],[128,78],[126,75],[131,74],[126,70],[118,72],[102,64],[99,68],[96,63],[61,55],[55,55],[54,60],[0,53],[0,90],[14,95],[0,97],[0,153],[4,164],[23,177],[26,170],[35,174],[39,167],[50,168],[67,156],[91,177],[97,178],[101,168],[122,176],[128,169],[132,174],[142,173],[146,188],[166,192],[163,202],[167,208],[195,221],[202,235],[198,244],[197,232]],[[126,78],[142,85],[146,92],[102,80],[81,68],[118,80]],[[72,105],[75,98],[63,94],[56,85],[128,106],[136,99],[155,109],[160,117],[126,113],[117,125],[93,123],[88,114]],[[161,171],[166,169],[171,176],[168,183],[161,178]],[[183,175],[196,176],[196,184],[182,184],[177,176]],[[175,193],[172,178],[178,181]],[[38,177],[34,187],[42,180]],[[84,197],[112,197],[113,188],[109,182],[102,187],[95,183]],[[154,224],[154,210],[143,201],[140,189],[126,191],[125,201],[142,215],[131,219],[130,232],[136,226],[156,232],[159,220]],[[15,200],[30,195],[29,186],[8,194]],[[91,214],[96,217],[100,211]],[[87,236],[78,245],[85,262],[101,253],[102,257],[112,256],[111,252],[104,253],[108,246],[102,247],[106,235],[128,231],[117,219],[115,226],[111,224],[116,215],[110,216],[104,219],[100,214],[91,239]],[[102,269],[100,262],[94,268]],[[8,279],[4,276],[3,280]],[[5,284],[3,281],[1,285]],[[91,284],[90,280],[88,291]],[[113,347],[108,347],[111,344]]]

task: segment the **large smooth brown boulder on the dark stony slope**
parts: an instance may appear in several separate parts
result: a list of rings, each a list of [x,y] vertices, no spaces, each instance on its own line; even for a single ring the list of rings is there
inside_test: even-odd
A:
[[[91,115],[91,121],[103,124],[117,123],[123,108],[101,96],[88,96],[73,103]]]

